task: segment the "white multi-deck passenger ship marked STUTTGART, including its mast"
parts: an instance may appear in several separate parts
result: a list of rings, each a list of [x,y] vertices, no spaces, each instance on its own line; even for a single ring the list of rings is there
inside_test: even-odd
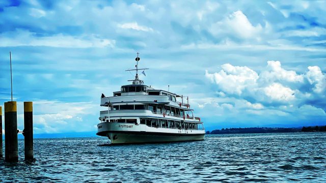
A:
[[[132,84],[121,86],[112,97],[101,96],[100,123],[97,135],[111,143],[146,143],[203,140],[205,129],[199,117],[194,117],[188,97],[154,89],[139,79],[139,53],[135,58],[136,75]],[[177,99],[181,99],[178,102]],[[184,103],[184,100],[187,103]]]

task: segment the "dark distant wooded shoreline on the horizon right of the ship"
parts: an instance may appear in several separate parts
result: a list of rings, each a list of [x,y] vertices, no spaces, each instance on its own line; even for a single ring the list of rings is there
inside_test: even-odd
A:
[[[326,132],[326,126],[300,127],[300,128],[226,128],[222,130],[207,131],[206,134],[245,134],[245,133],[291,133],[291,132]]]

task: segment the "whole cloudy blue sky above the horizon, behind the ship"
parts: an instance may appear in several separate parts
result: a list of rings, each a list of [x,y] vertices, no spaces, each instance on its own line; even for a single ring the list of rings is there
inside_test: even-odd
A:
[[[189,97],[206,130],[326,125],[326,1],[1,1],[0,105],[34,133],[96,131],[101,94]],[[4,120],[4,119],[3,119]]]

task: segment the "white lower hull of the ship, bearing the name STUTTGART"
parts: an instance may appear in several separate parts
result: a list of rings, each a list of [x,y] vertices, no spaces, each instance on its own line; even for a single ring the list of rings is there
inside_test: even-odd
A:
[[[98,124],[97,135],[108,137],[114,144],[150,143],[204,140],[205,131],[162,129],[143,124],[101,123]]]

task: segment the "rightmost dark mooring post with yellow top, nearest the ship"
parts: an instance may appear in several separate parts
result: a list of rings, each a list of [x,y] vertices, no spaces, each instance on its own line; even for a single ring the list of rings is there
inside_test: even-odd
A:
[[[24,102],[25,160],[34,160],[33,156],[33,102]]]

